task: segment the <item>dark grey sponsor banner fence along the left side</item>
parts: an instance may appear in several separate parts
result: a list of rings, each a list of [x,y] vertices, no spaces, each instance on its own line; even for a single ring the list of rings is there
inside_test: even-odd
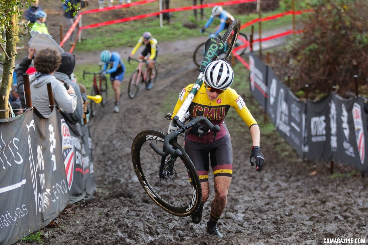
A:
[[[0,120],[0,131],[0,244],[12,244],[85,198],[85,189],[93,195],[91,143],[88,128],[74,134],[57,110],[49,118],[27,110]]]

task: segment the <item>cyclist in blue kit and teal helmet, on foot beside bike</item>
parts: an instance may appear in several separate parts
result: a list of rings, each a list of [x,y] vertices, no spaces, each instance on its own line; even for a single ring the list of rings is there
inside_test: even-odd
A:
[[[105,65],[103,66],[103,75],[110,74],[110,81],[115,92],[115,106],[114,112],[119,112],[119,99],[120,99],[120,84],[124,79],[125,65],[120,58],[120,54],[117,52],[110,52],[109,50],[103,50],[100,54],[100,59]],[[110,65],[110,69],[106,70]]]

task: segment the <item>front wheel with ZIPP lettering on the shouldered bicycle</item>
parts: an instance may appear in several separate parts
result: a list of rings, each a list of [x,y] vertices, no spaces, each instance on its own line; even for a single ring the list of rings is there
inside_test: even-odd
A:
[[[159,178],[161,156],[149,143],[162,149],[164,137],[162,132],[150,129],[135,136],[132,144],[134,170],[143,188],[157,205],[176,216],[189,216],[201,202],[201,183],[189,156],[176,142],[170,143],[171,146],[183,154],[173,159],[167,156],[164,177]]]

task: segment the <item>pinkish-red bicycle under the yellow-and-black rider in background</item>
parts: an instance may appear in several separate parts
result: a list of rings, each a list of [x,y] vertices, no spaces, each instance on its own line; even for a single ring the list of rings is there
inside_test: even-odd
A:
[[[129,80],[129,85],[128,85],[128,96],[133,99],[139,90],[139,87],[141,86],[141,84],[145,84],[146,89],[149,90],[153,87],[153,85],[156,82],[156,78],[157,78],[157,74],[158,74],[158,65],[155,62],[155,68],[154,69],[154,74],[155,76],[151,79],[151,83],[153,83],[153,85],[151,86],[151,88],[148,88],[148,85],[150,83],[149,81],[149,74],[148,74],[148,63],[145,60],[136,60],[134,58],[129,57],[128,58],[128,63],[130,64],[130,61],[137,61],[138,62],[138,67],[135,69],[135,71],[132,73],[130,80]],[[144,68],[145,67],[145,68]]]

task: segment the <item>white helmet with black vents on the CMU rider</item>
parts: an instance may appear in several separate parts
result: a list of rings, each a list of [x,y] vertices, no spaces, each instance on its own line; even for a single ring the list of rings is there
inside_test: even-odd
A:
[[[215,60],[205,69],[205,84],[215,89],[227,89],[233,83],[234,72],[230,64],[224,60]]]

